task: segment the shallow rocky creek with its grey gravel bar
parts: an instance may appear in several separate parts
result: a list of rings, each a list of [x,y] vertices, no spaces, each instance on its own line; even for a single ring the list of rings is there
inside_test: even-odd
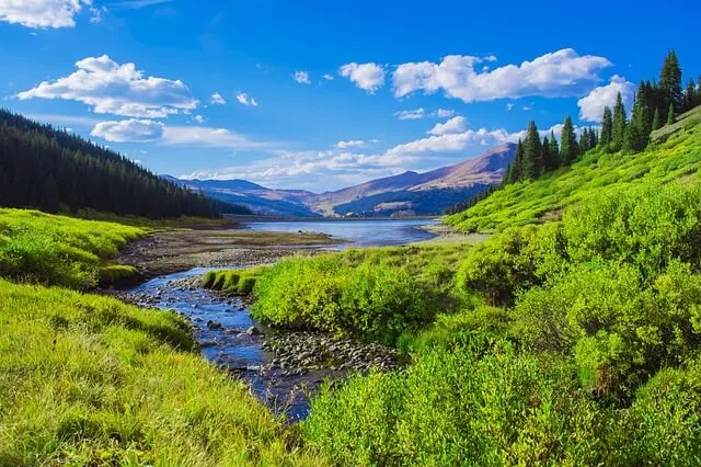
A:
[[[395,352],[378,344],[265,328],[251,318],[240,298],[199,287],[198,278],[209,270],[196,267],[153,278],[126,291],[123,299],[172,309],[189,319],[203,354],[246,381],[261,401],[290,421],[308,414],[309,397],[325,378],[399,366]]]

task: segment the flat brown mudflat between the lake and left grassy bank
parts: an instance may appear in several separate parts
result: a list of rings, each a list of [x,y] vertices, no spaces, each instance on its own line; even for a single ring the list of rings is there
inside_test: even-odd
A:
[[[325,234],[285,234],[245,229],[154,232],[129,243],[119,264],[136,266],[135,283],[192,267],[256,265],[292,254],[312,254],[340,241]]]

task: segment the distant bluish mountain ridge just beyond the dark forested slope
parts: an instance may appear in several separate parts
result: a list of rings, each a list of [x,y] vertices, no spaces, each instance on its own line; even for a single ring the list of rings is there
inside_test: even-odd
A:
[[[272,190],[246,180],[183,180],[163,179],[226,203],[234,203],[263,215],[315,217],[310,207],[317,196],[303,190]]]

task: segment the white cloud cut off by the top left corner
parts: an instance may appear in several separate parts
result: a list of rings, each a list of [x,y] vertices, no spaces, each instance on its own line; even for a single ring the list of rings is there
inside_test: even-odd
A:
[[[26,27],[73,27],[92,0],[0,0],[0,21]]]

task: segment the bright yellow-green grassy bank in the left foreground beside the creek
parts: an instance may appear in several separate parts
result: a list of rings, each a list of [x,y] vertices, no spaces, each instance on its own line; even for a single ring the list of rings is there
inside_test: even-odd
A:
[[[321,465],[175,314],[0,280],[0,465]]]

